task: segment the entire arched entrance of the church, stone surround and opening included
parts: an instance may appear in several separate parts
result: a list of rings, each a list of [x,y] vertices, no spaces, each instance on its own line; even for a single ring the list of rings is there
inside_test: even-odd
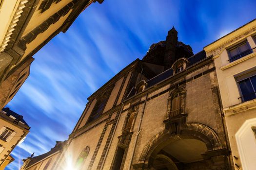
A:
[[[166,123],[149,140],[135,170],[227,170],[228,151],[217,134],[199,123]]]

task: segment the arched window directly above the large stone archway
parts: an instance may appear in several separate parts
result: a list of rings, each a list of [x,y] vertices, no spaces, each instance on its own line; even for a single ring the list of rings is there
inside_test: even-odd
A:
[[[167,116],[173,118],[183,113],[185,113],[185,89],[178,86],[171,92],[168,99]]]

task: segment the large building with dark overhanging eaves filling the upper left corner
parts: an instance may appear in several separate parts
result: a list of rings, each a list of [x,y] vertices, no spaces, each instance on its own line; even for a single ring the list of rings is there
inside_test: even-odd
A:
[[[34,54],[103,0],[0,0],[0,110],[29,76]]]

